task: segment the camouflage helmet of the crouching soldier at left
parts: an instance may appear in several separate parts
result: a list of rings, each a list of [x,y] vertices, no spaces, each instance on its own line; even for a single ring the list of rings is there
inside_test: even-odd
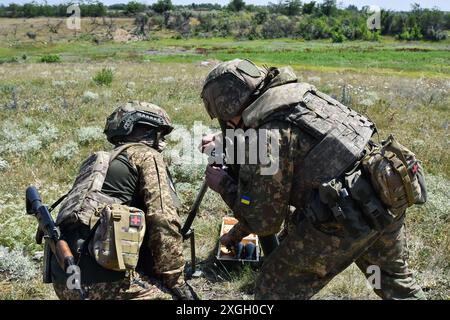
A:
[[[130,101],[117,107],[106,119],[103,132],[109,142],[116,144],[128,136],[136,124],[150,126],[162,136],[173,130],[172,122],[164,109],[148,102]]]

